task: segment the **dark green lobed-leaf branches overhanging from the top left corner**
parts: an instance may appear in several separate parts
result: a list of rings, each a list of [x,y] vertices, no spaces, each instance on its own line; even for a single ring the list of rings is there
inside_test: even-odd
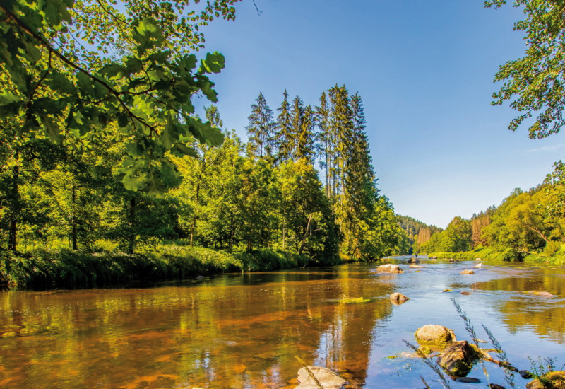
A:
[[[233,2],[208,4],[201,16],[191,14],[192,24],[173,18],[177,14],[167,2],[160,3],[167,9],[155,9],[153,1],[126,1],[129,17],[117,11],[115,1],[1,2],[0,120],[22,120],[18,136],[47,137],[70,147],[119,131],[128,139],[119,169],[124,187],[166,192],[181,181],[171,155],[196,156],[195,139],[210,146],[223,141],[219,129],[191,116],[191,97],[203,93],[218,100],[208,74],[223,69],[224,57],[213,52],[198,62],[172,43],[198,46],[200,35],[180,36],[173,27],[197,29],[214,13],[219,16],[218,9],[233,18]],[[206,12],[211,14],[203,20]],[[106,35],[92,26],[97,13],[115,19]],[[91,27],[78,35],[76,27],[88,21]],[[119,55],[103,56],[108,50]]]

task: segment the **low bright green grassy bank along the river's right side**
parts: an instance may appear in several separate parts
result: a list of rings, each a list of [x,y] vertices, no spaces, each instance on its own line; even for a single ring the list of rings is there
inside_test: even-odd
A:
[[[497,250],[492,247],[477,247],[467,252],[430,252],[430,257],[453,258],[456,260],[487,260],[492,262],[521,262],[525,265],[565,265],[565,245],[556,245],[553,250],[527,253],[518,250]]]

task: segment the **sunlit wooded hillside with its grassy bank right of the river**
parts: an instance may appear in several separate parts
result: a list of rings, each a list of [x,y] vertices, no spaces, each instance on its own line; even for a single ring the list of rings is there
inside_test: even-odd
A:
[[[410,252],[475,260],[565,264],[565,168],[559,161],[545,182],[528,191],[516,188],[498,206],[456,216],[443,231],[405,216]]]

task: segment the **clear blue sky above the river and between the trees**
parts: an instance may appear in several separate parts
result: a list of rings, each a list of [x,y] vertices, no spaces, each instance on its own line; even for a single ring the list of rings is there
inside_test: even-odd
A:
[[[259,91],[275,111],[283,91],[316,105],[338,83],[361,95],[379,189],[397,214],[445,228],[540,184],[565,156],[565,134],[528,139],[493,107],[500,64],[521,57],[521,11],[482,0],[251,0],[235,22],[206,27],[225,54],[213,77],[225,127],[246,140]],[[206,103],[205,99],[198,103]]]

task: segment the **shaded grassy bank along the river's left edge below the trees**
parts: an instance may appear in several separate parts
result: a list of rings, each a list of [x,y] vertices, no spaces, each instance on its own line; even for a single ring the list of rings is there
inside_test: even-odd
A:
[[[31,250],[0,257],[0,282],[31,289],[121,286],[226,272],[314,265],[309,257],[275,250],[227,252],[166,244],[136,254]]]

